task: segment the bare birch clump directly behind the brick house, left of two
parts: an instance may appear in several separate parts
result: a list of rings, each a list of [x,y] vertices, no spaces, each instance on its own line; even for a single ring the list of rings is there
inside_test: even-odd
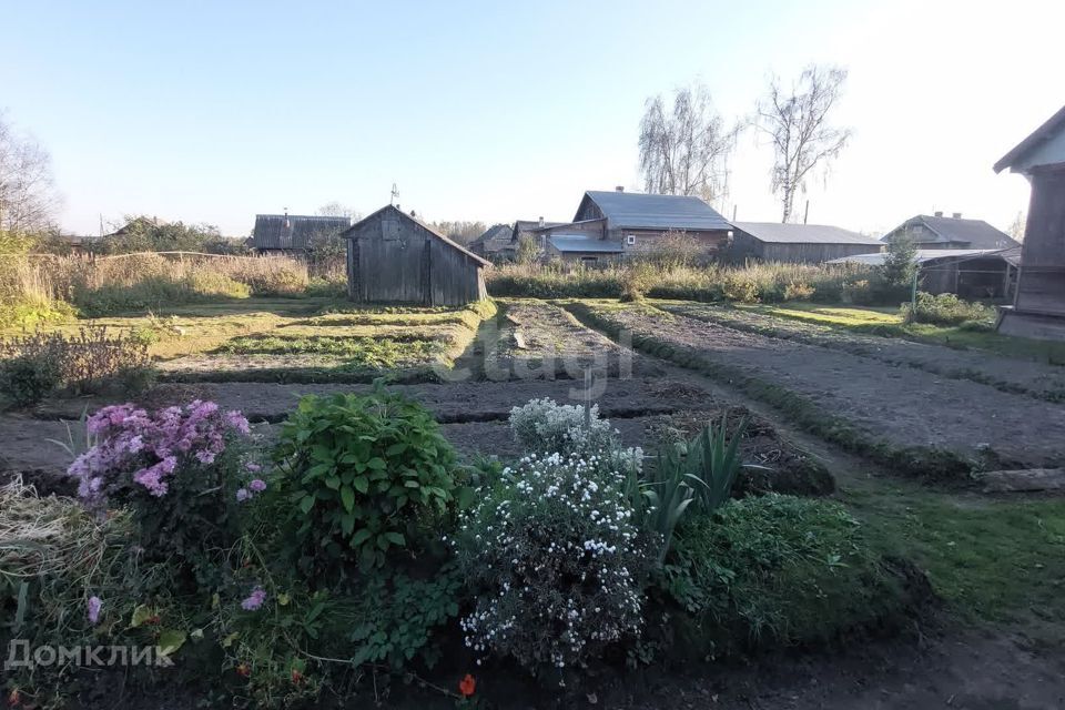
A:
[[[720,197],[739,131],[739,124],[726,128],[702,83],[677,89],[671,109],[661,95],[648,99],[638,141],[643,189],[708,202]]]

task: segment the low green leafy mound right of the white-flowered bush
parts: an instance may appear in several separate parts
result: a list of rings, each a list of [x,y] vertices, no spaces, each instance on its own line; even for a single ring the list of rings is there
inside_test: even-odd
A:
[[[680,630],[700,653],[832,639],[912,604],[843,506],[777,494],[689,517],[665,580],[696,621]]]

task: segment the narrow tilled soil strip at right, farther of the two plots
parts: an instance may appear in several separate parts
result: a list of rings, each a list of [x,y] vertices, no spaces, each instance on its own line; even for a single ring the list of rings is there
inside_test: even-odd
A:
[[[1065,402],[1065,367],[1000,357],[982,351],[952,349],[907,339],[849,333],[828,325],[777,317],[747,308],[691,303],[662,303],[660,307],[669,313],[738,331],[843,351],[891,365],[909,365],[944,377],[971,379],[1038,399]]]

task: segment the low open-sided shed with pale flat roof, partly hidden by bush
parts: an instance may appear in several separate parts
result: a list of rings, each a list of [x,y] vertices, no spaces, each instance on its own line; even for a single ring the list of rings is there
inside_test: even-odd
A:
[[[854,254],[830,261],[882,266],[886,253]],[[931,294],[964,298],[1003,298],[1013,293],[1021,248],[921,248],[914,255],[917,286]]]

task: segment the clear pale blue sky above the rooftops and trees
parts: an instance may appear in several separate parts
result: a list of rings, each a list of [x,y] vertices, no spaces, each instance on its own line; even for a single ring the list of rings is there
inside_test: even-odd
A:
[[[428,220],[564,220],[639,185],[647,97],[703,80],[728,118],[770,72],[851,75],[855,136],[811,222],[919,212],[1006,227],[1027,200],[992,163],[1065,103],[1065,3],[9,2],[0,109],[52,154],[70,231],[123,213],[246,234],[256,212],[388,202]],[[771,154],[733,160],[741,220],[775,220]]]

